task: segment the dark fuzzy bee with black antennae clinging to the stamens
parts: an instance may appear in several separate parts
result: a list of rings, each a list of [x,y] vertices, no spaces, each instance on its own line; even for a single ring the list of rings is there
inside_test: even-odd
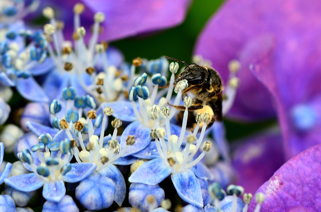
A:
[[[215,120],[222,120],[222,80],[219,73],[208,66],[201,66],[195,63],[187,65],[186,62],[165,56],[169,60],[174,60],[186,65],[184,71],[182,71],[177,79],[174,81],[176,85],[179,81],[186,79],[188,87],[184,89],[182,96],[188,92],[194,94],[193,104],[188,108],[187,123],[190,127],[196,126],[195,117],[198,113],[207,112],[212,116],[212,121],[208,126],[212,126]],[[169,104],[171,105],[171,104]],[[181,110],[178,114],[178,121],[183,121],[183,110],[185,107],[182,105],[171,105],[172,107]]]

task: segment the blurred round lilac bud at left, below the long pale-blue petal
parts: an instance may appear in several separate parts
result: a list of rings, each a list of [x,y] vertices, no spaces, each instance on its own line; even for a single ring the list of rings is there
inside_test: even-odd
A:
[[[50,126],[49,117],[49,105],[47,103],[30,102],[22,111],[20,125],[24,131],[29,131],[26,125],[27,121]]]

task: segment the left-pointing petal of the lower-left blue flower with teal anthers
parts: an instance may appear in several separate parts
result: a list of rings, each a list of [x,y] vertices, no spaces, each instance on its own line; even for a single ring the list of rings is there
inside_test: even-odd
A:
[[[4,179],[4,183],[22,192],[31,192],[39,189],[46,181],[36,173],[17,175]]]

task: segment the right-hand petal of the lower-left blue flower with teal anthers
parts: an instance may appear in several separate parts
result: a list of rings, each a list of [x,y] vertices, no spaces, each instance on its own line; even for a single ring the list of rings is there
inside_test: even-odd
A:
[[[72,163],[71,170],[64,176],[67,183],[76,183],[87,178],[97,167],[95,163]]]

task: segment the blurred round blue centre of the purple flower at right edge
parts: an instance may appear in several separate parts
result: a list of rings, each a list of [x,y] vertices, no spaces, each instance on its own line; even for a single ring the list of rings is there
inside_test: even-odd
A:
[[[309,105],[296,105],[291,110],[294,126],[301,131],[312,129],[317,123],[316,111]]]

